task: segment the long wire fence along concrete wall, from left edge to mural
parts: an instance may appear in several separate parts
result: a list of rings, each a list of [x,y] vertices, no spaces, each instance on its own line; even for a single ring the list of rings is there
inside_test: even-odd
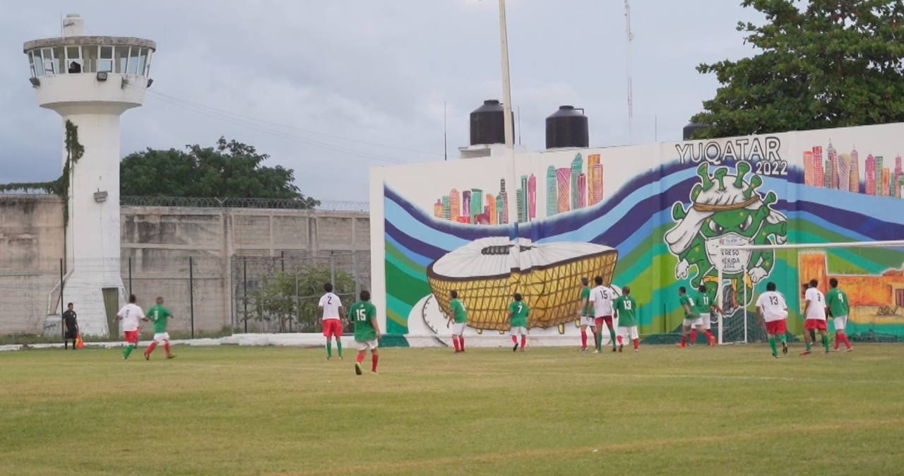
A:
[[[233,332],[318,332],[317,303],[324,284],[349,307],[370,286],[368,251],[316,255],[213,257],[153,248],[131,250],[117,262],[47,258],[0,269],[0,343],[61,341],[66,303],[73,303],[89,340],[117,340],[116,313],[135,294],[147,312],[157,297],[173,319],[174,339],[219,337]],[[121,278],[121,286],[118,280]],[[143,324],[143,339],[153,326]],[[103,330],[109,336],[102,338]]]

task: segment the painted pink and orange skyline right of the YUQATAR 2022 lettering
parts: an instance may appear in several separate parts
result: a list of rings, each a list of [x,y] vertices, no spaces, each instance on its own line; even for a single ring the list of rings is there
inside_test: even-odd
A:
[[[894,163],[883,155],[867,154],[861,170],[860,153],[856,148],[850,153],[839,154],[829,141],[825,149],[815,145],[804,152],[804,183],[813,187],[902,198],[904,171],[901,165],[900,154],[895,156]]]

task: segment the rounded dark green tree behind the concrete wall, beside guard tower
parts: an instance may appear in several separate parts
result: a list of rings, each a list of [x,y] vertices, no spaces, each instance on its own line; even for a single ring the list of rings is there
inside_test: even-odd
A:
[[[251,145],[221,137],[214,147],[186,145],[185,151],[155,150],[129,154],[120,168],[122,195],[166,197],[262,198],[302,201],[295,171],[261,165],[268,159]]]

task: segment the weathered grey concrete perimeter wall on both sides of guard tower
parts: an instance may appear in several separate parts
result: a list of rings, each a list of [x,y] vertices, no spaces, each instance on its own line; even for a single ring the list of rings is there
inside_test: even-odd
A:
[[[0,195],[0,334],[43,330],[49,299],[59,292],[62,208],[52,196]],[[359,277],[369,285],[367,213],[122,207],[120,216],[123,282],[127,289],[131,282],[145,309],[164,296],[177,317],[173,331],[190,329],[192,294],[195,331],[231,325],[236,257],[259,262],[355,253]],[[65,299],[78,311],[77,296]]]

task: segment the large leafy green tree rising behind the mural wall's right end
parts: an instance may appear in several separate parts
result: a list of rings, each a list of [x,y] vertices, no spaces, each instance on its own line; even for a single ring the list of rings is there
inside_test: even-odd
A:
[[[720,137],[904,121],[900,0],[743,0],[751,58],[701,64],[721,84],[692,122]]]

